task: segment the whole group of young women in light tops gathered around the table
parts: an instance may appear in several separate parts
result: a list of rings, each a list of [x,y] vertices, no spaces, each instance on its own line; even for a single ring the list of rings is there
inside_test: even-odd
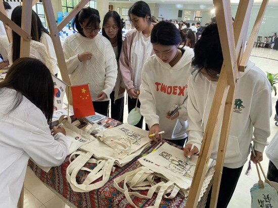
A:
[[[105,15],[102,28],[97,10],[83,8],[76,15],[73,27],[78,33],[67,37],[63,45],[71,83],[90,82],[95,111],[108,115],[111,99],[112,118],[119,121],[123,120],[125,90],[129,112],[139,96],[137,106],[149,135],[155,134],[152,139],[163,137],[180,146],[187,140],[184,155],[198,154],[223,64],[217,24],[207,26],[195,44],[191,30],[181,33],[170,22],[152,23],[150,7],[143,1],[134,3],[128,16],[134,29],[122,40],[117,12]],[[98,34],[101,29],[103,35]],[[70,145],[63,127],[50,130],[54,109],[51,72],[55,72],[37,59],[18,59],[15,54],[20,45],[13,42],[12,47],[14,63],[0,83],[0,201],[5,207],[16,207],[30,157],[41,166],[58,166]],[[173,104],[179,110],[171,117]],[[262,161],[271,113],[270,84],[248,62],[236,90],[218,208],[226,207],[234,193],[253,137],[256,157],[251,160]],[[142,128],[143,117],[137,127]],[[165,134],[159,135],[160,131]],[[219,132],[217,139],[212,159],[216,159]],[[210,195],[206,207],[209,203]]]

